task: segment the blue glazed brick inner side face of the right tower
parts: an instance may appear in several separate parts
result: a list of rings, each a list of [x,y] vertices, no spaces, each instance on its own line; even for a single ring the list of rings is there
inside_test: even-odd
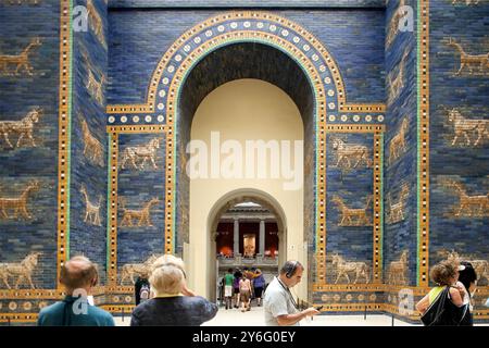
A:
[[[415,2],[405,1],[415,10]],[[390,1],[386,10],[386,37],[389,25],[399,8],[399,1]],[[414,12],[415,13],[415,12]],[[414,24],[416,28],[416,24]],[[390,45],[386,44],[386,134],[384,136],[384,281],[389,281],[389,266],[392,261],[399,261],[403,250],[408,250],[409,273],[405,274],[409,284],[416,285],[417,270],[417,116],[416,116],[416,33],[398,30]],[[389,99],[389,80],[400,74],[402,57],[406,53],[402,87],[394,98]],[[405,150],[399,151],[399,157],[391,153],[391,140],[399,134],[402,121],[408,120],[405,133]],[[400,201],[402,186],[409,188],[404,199],[404,219],[390,221],[390,202]],[[396,219],[397,220],[397,219]]]

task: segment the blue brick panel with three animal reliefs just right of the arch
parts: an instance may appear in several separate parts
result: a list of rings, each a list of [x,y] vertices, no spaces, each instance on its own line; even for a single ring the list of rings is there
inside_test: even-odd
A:
[[[347,262],[365,262],[372,275],[373,265],[373,226],[365,223],[360,226],[350,226],[349,221],[339,206],[334,201],[335,196],[342,199],[349,209],[364,209],[368,196],[373,195],[373,170],[366,167],[365,162],[361,162],[358,167],[349,171],[342,170],[346,161],[341,160],[337,166],[337,151],[333,149],[334,139],[341,139],[348,145],[365,146],[368,149],[368,158],[373,159],[372,134],[328,134],[326,136],[326,278],[327,283],[336,283],[337,270],[333,265],[333,254],[339,254]],[[351,165],[355,163],[352,162]],[[373,199],[373,197],[371,197]],[[366,216],[372,224],[373,200],[366,210]],[[352,217],[351,222],[356,222]],[[351,274],[349,275],[351,276]],[[354,277],[350,279],[353,283]],[[360,283],[365,278],[360,277]],[[338,284],[346,284],[343,276]]]

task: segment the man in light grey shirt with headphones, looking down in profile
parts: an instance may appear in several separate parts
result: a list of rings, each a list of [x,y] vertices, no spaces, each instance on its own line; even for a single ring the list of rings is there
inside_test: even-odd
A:
[[[304,266],[299,261],[287,261],[265,290],[263,307],[265,310],[265,325],[267,326],[299,326],[305,316],[319,313],[311,307],[299,311],[290,288],[301,282]]]

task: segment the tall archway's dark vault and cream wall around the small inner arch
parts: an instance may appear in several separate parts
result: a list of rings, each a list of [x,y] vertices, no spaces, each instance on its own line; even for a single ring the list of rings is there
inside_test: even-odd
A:
[[[196,270],[197,274],[189,283],[201,288],[201,294],[213,298],[213,279],[216,278],[215,260],[213,263],[209,260],[209,256],[216,254],[211,250],[215,249],[215,240],[211,243],[210,237],[213,229],[210,225],[204,228],[202,222],[209,216],[210,202],[217,201],[227,191],[251,187],[275,197],[286,211],[290,211],[289,220],[293,221],[292,227],[287,226],[288,245],[281,256],[300,259],[304,264],[310,262],[308,244],[314,243],[314,95],[304,72],[286,53],[266,45],[241,42],[221,47],[205,55],[187,75],[179,97],[176,128],[179,139],[176,144],[179,163],[176,251],[183,252],[189,268]],[[212,137],[213,133],[218,136]],[[186,146],[190,140],[202,140],[212,156],[212,144],[216,139],[218,146],[237,140],[243,148],[247,140],[276,140],[279,149],[280,141],[287,140],[290,152],[294,152],[293,141],[302,141],[301,167],[293,169],[297,172],[293,174],[300,176],[299,189],[284,189],[284,179],[271,185],[263,179],[246,177],[238,185],[228,186],[227,179],[211,177],[213,163],[209,159],[208,182],[201,182],[203,190],[199,190],[196,184],[202,179],[190,179],[187,173],[192,153],[187,152]],[[293,153],[291,161],[293,166]],[[267,173],[280,170],[280,164],[268,160]],[[308,283],[299,289],[303,298],[308,297]]]

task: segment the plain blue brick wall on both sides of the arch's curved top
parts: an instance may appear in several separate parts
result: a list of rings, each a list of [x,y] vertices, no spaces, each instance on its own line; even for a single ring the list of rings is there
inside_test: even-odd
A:
[[[139,103],[166,49],[218,11],[109,11],[108,103]],[[384,10],[274,11],[305,27],[337,61],[349,102],[384,101]],[[348,45],[346,45],[348,42]]]

